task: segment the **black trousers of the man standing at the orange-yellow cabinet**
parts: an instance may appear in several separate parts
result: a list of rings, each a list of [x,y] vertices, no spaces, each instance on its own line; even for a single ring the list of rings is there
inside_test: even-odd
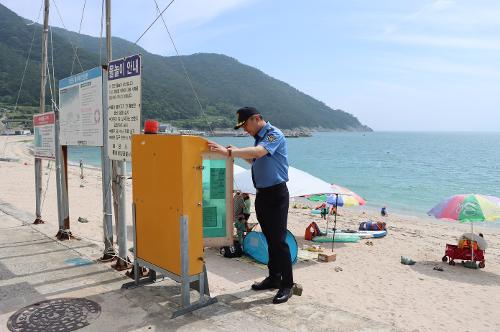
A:
[[[281,287],[293,285],[290,248],[286,243],[290,195],[286,183],[257,189],[255,213],[267,240],[269,275],[281,279]]]

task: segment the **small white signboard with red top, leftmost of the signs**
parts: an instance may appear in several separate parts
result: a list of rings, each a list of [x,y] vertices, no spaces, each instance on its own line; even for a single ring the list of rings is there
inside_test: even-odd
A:
[[[55,159],[55,121],[54,112],[33,115],[35,158]]]

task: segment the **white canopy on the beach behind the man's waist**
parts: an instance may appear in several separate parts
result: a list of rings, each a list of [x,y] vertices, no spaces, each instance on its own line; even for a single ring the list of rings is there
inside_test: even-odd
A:
[[[286,185],[290,197],[330,194],[335,192],[328,182],[295,167],[288,168],[288,182]],[[255,195],[251,170],[245,170],[244,172],[234,174],[234,190]]]

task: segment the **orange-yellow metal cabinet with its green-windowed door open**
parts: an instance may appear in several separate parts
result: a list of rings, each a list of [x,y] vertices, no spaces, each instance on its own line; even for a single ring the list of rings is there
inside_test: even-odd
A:
[[[205,227],[205,233],[220,237],[218,242],[211,239],[211,243],[229,244],[233,238],[232,160],[214,157],[207,152],[207,143],[198,136],[132,136],[136,257],[178,276],[181,216],[188,219],[189,276],[203,271],[204,210],[205,224],[213,224],[215,230],[215,226],[224,226],[218,234]],[[221,159],[223,172],[221,168],[208,169],[211,158]],[[204,173],[208,174],[205,181],[212,180],[212,187],[217,185],[212,189],[212,197],[221,199],[206,199],[210,188],[203,187]],[[222,208],[216,206],[220,202]],[[225,211],[221,213],[221,209]]]

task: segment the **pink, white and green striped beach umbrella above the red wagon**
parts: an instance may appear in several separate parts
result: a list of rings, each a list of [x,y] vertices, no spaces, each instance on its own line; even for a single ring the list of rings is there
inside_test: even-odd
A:
[[[474,223],[500,220],[500,198],[479,194],[454,195],[443,200],[427,212],[439,219],[470,222],[474,234]],[[474,249],[471,246],[471,258]]]

